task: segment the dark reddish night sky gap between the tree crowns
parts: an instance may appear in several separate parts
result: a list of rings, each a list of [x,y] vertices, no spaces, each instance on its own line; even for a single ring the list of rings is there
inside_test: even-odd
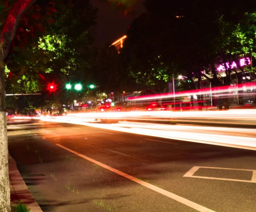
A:
[[[95,45],[101,46],[126,35],[126,31],[132,20],[145,11],[144,0],[137,0],[131,14],[124,15],[121,10],[116,10],[111,5],[100,0],[91,0],[91,4],[98,8],[97,25],[95,28]]]

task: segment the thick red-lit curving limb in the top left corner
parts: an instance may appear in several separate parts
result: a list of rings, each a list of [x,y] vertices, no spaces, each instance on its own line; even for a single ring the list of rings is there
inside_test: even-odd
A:
[[[25,13],[25,11],[35,2],[36,0],[18,0],[13,5],[12,9],[10,9],[3,30],[1,32],[1,42],[3,44],[4,59],[7,57],[7,54],[9,52],[10,43],[12,42],[16,34],[20,18]]]

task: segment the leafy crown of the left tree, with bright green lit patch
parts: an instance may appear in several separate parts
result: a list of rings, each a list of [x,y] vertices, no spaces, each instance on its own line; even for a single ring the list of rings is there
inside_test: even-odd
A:
[[[34,78],[38,73],[60,74],[59,70],[66,75],[75,71],[86,74],[91,66],[93,37],[89,28],[95,24],[97,9],[88,0],[37,3],[20,20],[6,59],[12,72],[6,82],[9,88],[26,73]],[[35,83],[26,84],[23,91],[36,87]]]

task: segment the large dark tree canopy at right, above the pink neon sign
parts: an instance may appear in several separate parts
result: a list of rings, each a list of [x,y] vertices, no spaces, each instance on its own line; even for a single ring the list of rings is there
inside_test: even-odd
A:
[[[255,55],[255,1],[146,0],[145,7],[121,51],[138,84],[160,91],[157,85],[183,73],[191,82],[204,76],[220,86],[215,64]]]

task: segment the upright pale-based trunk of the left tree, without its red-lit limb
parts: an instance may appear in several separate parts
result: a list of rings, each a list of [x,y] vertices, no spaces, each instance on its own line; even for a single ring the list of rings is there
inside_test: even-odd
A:
[[[0,42],[0,211],[9,212],[10,208],[10,184],[8,170],[8,143],[5,115],[5,75],[4,54]]]

